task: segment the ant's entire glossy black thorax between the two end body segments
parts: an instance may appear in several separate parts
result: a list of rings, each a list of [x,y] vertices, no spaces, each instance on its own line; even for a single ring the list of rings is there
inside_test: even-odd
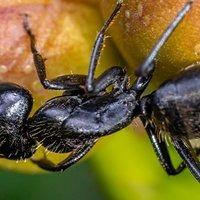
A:
[[[111,71],[115,78],[117,72],[125,81],[124,69],[113,67]],[[111,71],[105,73],[110,75]],[[102,85],[104,79],[96,82]],[[125,86],[118,84],[111,93],[98,91],[99,96],[68,94],[49,100],[31,117],[29,134],[51,151],[69,152],[86,140],[116,132],[139,113],[136,96],[124,92]]]

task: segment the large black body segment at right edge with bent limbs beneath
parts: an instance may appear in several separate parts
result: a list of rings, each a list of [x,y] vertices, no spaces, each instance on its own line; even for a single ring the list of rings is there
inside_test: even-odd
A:
[[[143,97],[143,115],[140,116],[166,172],[169,175],[176,175],[186,165],[198,181],[200,146],[193,145],[193,141],[200,140],[199,86],[200,66],[196,65],[166,81],[151,95]],[[173,167],[167,151],[166,132],[184,160],[178,168]]]

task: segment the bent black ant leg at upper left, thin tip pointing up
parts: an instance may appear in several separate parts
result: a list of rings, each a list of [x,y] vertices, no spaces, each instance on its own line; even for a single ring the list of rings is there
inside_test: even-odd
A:
[[[28,15],[24,14],[23,26],[27,32],[30,42],[31,42],[31,52],[33,54],[34,64],[37,70],[38,77],[41,84],[45,89],[54,89],[54,90],[79,90],[80,86],[85,86],[86,76],[85,75],[64,75],[59,76],[52,80],[46,79],[46,70],[45,70],[45,60],[39,54],[36,49],[35,36],[31,31],[31,28],[28,23]]]

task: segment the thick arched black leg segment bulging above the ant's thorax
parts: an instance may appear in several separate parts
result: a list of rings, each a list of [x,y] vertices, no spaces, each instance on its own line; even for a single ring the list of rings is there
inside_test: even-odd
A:
[[[94,81],[94,94],[104,91],[108,86],[113,85],[116,89],[126,89],[126,70],[122,67],[114,66],[103,72]]]

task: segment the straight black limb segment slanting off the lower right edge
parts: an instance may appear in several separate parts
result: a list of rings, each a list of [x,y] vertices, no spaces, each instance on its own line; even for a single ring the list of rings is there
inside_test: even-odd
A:
[[[193,176],[200,182],[200,162],[192,149],[186,147],[187,141],[182,138],[172,137],[174,147],[184,160],[185,164],[193,174]]]

